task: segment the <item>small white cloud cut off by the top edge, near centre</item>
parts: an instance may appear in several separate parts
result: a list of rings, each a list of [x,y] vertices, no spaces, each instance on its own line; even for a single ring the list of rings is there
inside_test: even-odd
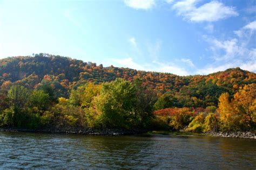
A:
[[[155,0],[124,0],[124,3],[134,9],[151,9],[155,4]]]

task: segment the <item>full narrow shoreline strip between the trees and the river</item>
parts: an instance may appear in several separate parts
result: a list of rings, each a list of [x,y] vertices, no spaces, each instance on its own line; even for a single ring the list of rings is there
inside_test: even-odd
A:
[[[89,134],[102,136],[120,136],[132,134],[160,134],[173,136],[212,136],[224,138],[242,138],[242,139],[256,139],[256,134],[253,132],[205,132],[192,133],[183,131],[145,131],[145,130],[122,130],[122,129],[95,129],[95,128],[42,128],[42,129],[22,129],[22,128],[0,128],[0,132],[31,132],[31,133],[57,133],[57,134]]]

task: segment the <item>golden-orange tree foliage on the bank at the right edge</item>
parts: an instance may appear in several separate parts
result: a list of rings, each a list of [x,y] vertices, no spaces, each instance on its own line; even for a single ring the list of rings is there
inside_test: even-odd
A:
[[[256,84],[240,87],[233,100],[228,94],[219,97],[220,122],[226,130],[251,129],[256,123]]]

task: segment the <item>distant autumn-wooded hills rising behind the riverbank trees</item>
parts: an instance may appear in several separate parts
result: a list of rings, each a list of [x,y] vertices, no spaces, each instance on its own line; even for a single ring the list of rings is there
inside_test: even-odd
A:
[[[170,73],[144,72],[130,68],[103,67],[92,62],[71,59],[59,55],[35,54],[0,60],[0,87],[22,84],[36,88],[49,82],[58,96],[68,97],[72,88],[86,82],[109,82],[117,77],[133,81],[142,79],[143,85],[156,91],[176,95],[180,101],[193,107],[217,105],[223,91],[233,95],[244,84],[256,83],[256,74],[240,68],[209,75],[178,76]],[[193,101],[191,103],[191,101]]]

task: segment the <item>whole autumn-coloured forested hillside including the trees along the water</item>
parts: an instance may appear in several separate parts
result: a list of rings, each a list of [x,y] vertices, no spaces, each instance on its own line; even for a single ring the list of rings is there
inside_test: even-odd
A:
[[[202,121],[210,115],[209,120],[216,118],[217,121],[219,117],[222,123],[227,122],[223,129],[251,129],[255,125],[255,83],[256,74],[240,68],[209,75],[178,76],[103,67],[42,53],[16,56],[0,60],[0,125],[35,128],[62,122],[72,126],[131,129],[149,124],[163,128],[166,124],[179,130],[190,123],[195,124],[193,118],[203,124]],[[242,96],[249,96],[247,112],[237,105],[245,102]],[[112,103],[114,101],[117,103]],[[227,105],[229,111],[225,110]],[[153,118],[153,111],[159,119]],[[205,115],[200,117],[202,112]],[[240,114],[236,120],[240,123],[235,123],[228,119],[231,112],[246,114]],[[213,116],[214,113],[217,115]],[[29,119],[29,123],[26,122]],[[227,125],[230,122],[231,125]],[[193,127],[190,125],[188,129],[193,131]]]

